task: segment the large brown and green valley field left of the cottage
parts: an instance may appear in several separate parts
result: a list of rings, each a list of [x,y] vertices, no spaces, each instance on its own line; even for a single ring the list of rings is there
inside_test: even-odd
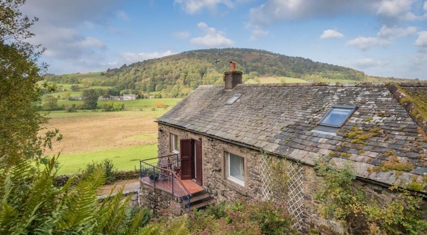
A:
[[[77,112],[52,111],[46,130],[59,129],[63,139],[54,144],[48,155],[58,154],[59,174],[73,174],[92,161],[110,159],[119,170],[139,167],[139,159],[157,155],[157,117],[176,105],[180,99],[145,99],[122,101],[125,111],[105,112],[100,109],[106,101],[98,102],[98,109]],[[59,103],[81,101],[60,100]],[[153,104],[163,102],[166,109]]]

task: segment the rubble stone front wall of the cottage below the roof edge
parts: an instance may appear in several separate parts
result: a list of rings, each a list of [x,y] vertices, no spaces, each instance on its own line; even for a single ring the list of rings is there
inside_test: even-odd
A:
[[[158,154],[170,154],[169,134],[173,133],[180,139],[193,138],[202,142],[202,160],[203,160],[203,186],[206,191],[220,201],[235,201],[238,198],[248,197],[250,199],[260,200],[263,198],[260,151],[239,147],[228,144],[218,139],[212,139],[204,135],[183,131],[178,128],[159,124],[158,132]],[[245,186],[240,186],[224,179],[223,161],[224,151],[233,151],[246,158],[246,181]],[[317,215],[317,203],[314,200],[314,193],[321,178],[317,177],[311,166],[300,165],[303,168],[303,225],[307,230],[314,227],[324,234],[342,233],[343,227],[336,221],[325,220]],[[367,194],[367,200],[375,199],[381,204],[390,202],[395,195],[387,188],[362,181],[356,181],[356,186],[361,186]]]

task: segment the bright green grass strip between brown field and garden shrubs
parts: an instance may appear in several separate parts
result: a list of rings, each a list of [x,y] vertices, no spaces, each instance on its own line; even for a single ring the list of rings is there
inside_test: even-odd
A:
[[[58,174],[74,174],[91,162],[109,159],[119,170],[139,169],[139,160],[157,156],[157,145],[135,146],[120,149],[105,149],[87,153],[62,154],[59,156]]]

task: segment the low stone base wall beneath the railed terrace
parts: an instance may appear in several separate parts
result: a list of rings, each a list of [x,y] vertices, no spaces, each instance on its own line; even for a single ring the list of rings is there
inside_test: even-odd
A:
[[[138,203],[151,209],[155,216],[182,215],[184,209],[179,199],[154,187],[141,183]]]

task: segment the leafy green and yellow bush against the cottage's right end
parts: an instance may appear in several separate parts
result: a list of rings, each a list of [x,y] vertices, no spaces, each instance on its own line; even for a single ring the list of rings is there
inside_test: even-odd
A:
[[[368,201],[361,189],[352,184],[355,175],[352,167],[335,169],[327,163],[315,168],[324,179],[316,191],[320,201],[318,213],[327,219],[335,219],[346,225],[352,234],[425,234],[427,222],[421,217],[417,193],[390,187],[396,198],[381,206]]]

